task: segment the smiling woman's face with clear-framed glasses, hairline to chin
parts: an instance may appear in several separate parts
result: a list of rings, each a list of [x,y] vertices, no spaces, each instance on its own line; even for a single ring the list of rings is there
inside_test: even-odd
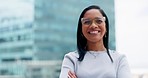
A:
[[[103,40],[106,33],[105,17],[98,9],[88,10],[81,19],[82,33],[88,42]]]

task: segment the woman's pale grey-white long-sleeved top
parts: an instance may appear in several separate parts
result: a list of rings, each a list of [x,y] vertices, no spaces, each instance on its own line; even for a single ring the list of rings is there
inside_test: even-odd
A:
[[[109,50],[111,62],[106,51],[87,51],[83,61],[78,61],[78,52],[65,55],[59,78],[67,78],[68,71],[78,78],[131,78],[131,72],[125,55]]]

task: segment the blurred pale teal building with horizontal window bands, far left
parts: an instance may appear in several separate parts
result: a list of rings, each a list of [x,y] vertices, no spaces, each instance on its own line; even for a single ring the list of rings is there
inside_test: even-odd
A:
[[[1,20],[0,61],[31,60],[33,22],[10,16]]]

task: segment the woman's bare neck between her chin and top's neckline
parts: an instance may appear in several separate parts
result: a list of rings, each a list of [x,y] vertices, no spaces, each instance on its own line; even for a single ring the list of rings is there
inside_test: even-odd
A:
[[[106,50],[102,40],[100,42],[87,42],[87,49],[89,51],[104,51],[104,50]]]

